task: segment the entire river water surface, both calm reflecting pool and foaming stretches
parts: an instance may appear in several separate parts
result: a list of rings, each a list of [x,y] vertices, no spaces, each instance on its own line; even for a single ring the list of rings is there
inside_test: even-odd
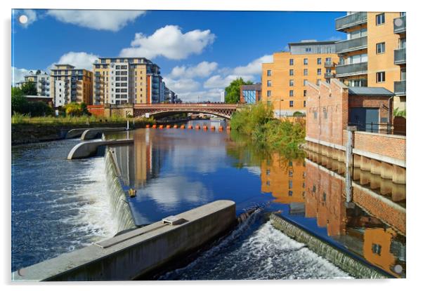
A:
[[[194,121],[203,123],[210,127],[209,121]],[[352,278],[274,229],[268,212],[391,276],[405,276],[403,221],[389,217],[395,213],[378,217],[360,205],[346,208],[341,171],[324,168],[322,158],[302,151],[289,157],[269,153],[226,130],[150,128],[107,138],[127,135],[134,145],[114,150],[124,190],[137,190],[128,199],[139,226],[218,199],[235,201],[237,215],[257,205],[262,209],[160,280]],[[104,159],[66,161],[76,143],[13,147],[12,270],[115,234],[116,222],[106,218]],[[354,175],[356,187],[368,190],[369,181],[377,180]],[[385,181],[383,189],[384,201],[405,208],[405,186]],[[371,190],[381,195],[377,187]]]

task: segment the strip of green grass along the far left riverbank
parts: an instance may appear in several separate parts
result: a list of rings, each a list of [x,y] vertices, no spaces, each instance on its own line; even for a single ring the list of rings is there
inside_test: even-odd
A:
[[[97,116],[41,116],[31,117],[25,114],[13,114],[12,116],[13,125],[39,125],[39,126],[74,126],[74,125],[92,125],[92,124],[110,124],[110,123],[155,123],[154,119],[145,118],[124,118],[122,116],[111,116],[111,117],[97,117]]]

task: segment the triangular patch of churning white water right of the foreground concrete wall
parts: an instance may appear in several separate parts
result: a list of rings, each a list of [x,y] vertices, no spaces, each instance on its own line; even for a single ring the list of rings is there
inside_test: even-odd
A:
[[[188,266],[159,280],[352,278],[261,218],[256,212]]]

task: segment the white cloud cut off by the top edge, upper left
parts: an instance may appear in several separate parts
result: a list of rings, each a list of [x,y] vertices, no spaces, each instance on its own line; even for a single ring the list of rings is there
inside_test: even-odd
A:
[[[61,22],[80,27],[117,32],[129,22],[145,14],[145,11],[49,10],[47,14]]]

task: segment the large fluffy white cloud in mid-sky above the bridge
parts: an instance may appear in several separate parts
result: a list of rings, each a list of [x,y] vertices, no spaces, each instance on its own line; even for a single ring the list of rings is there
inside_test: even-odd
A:
[[[183,34],[180,27],[167,25],[150,36],[135,34],[131,47],[122,49],[120,56],[154,58],[162,55],[171,60],[181,60],[188,55],[202,53],[206,46],[213,43],[214,38],[215,35],[209,29],[195,29]]]

